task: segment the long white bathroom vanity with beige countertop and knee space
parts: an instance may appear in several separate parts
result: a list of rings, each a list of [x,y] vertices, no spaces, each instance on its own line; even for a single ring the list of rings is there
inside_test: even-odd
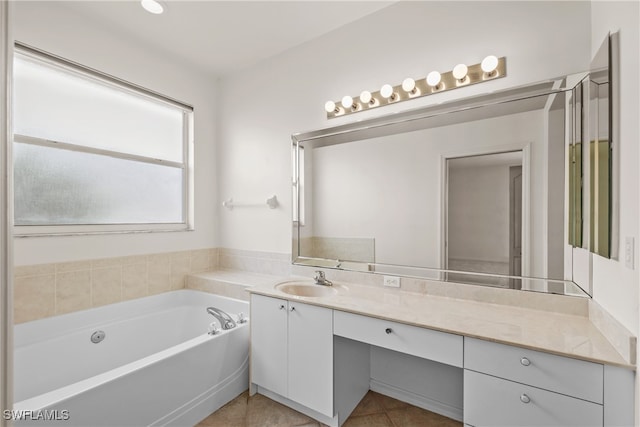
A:
[[[463,402],[456,413],[402,384],[381,392],[470,426],[633,424],[635,366],[588,318],[356,284],[281,289],[250,289],[251,392],[320,422],[344,423],[374,388],[373,352],[386,351],[444,365],[451,378],[428,387],[462,377]]]

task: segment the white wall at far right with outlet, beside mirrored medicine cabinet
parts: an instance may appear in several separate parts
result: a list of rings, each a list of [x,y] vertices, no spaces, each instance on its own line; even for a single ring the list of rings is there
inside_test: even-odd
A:
[[[638,274],[638,237],[640,230],[640,3],[593,1],[591,20],[592,54],[609,31],[620,33],[619,99],[614,100],[618,122],[614,123],[613,146],[619,159],[614,170],[620,183],[619,260],[599,256],[593,259],[593,298],[636,336],[640,334],[640,275]],[[614,76],[615,78],[615,76]],[[624,242],[635,240],[634,269],[625,267]],[[640,347],[638,347],[640,352]],[[636,398],[640,397],[640,380],[636,375]],[[640,408],[636,403],[636,425],[640,424]]]

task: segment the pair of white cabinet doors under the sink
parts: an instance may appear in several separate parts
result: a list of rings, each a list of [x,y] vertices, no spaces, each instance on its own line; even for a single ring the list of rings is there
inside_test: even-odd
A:
[[[252,294],[251,382],[332,417],[333,310]]]

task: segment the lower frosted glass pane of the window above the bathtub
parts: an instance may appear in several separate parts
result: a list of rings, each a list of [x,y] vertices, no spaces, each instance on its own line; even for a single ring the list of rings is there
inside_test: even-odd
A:
[[[182,169],[14,144],[16,225],[179,223]]]

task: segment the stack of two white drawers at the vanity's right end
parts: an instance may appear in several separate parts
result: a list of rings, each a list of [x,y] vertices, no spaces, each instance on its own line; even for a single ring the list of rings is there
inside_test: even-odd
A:
[[[464,350],[465,424],[603,425],[603,365],[473,338]]]

